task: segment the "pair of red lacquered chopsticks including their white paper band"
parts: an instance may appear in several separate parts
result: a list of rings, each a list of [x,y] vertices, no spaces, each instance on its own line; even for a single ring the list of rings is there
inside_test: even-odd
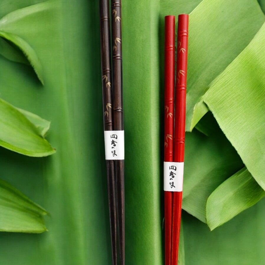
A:
[[[188,22],[188,15],[178,16],[175,80],[175,16],[165,17],[164,207],[166,265],[177,265],[178,260],[185,145]]]

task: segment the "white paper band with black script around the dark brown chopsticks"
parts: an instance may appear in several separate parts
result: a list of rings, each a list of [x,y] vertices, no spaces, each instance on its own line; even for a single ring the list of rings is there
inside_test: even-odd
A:
[[[124,160],[124,131],[104,131],[106,160]]]

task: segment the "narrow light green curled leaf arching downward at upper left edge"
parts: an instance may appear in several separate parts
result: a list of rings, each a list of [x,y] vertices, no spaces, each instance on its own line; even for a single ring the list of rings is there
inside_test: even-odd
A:
[[[1,28],[1,20],[0,20],[0,28]],[[42,65],[41,62],[36,54],[36,52],[33,50],[33,48],[21,37],[14,35],[12,33],[7,33],[2,30],[0,30],[0,37],[3,37],[10,42],[12,42],[14,45],[16,45],[24,55],[29,60],[30,64],[32,65],[35,73],[37,74],[40,82],[44,84],[43,81],[43,73],[42,73]]]

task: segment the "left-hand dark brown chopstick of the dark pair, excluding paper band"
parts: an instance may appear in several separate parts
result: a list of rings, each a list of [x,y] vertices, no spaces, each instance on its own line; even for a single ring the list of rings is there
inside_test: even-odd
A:
[[[102,99],[105,131],[113,130],[112,121],[112,93],[111,93],[111,43],[109,25],[109,2],[100,0],[100,39],[101,39],[101,73],[102,73]],[[106,139],[105,139],[106,152]],[[114,160],[106,157],[107,182],[108,182],[108,206],[111,231],[112,264],[117,264],[117,236],[116,236],[116,194]]]

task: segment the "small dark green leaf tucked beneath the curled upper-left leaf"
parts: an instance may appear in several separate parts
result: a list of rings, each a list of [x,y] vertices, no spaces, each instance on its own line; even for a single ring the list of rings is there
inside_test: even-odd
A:
[[[0,54],[10,61],[29,64],[23,53],[4,38],[0,38]]]

